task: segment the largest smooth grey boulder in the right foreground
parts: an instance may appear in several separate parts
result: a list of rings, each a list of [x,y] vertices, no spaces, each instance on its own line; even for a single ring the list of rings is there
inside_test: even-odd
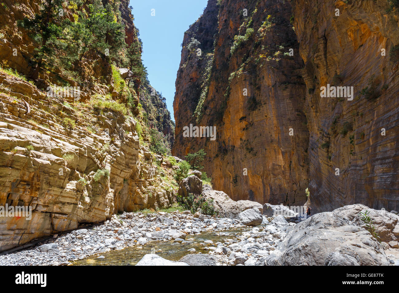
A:
[[[334,212],[315,214],[287,230],[267,265],[388,265],[381,244]]]

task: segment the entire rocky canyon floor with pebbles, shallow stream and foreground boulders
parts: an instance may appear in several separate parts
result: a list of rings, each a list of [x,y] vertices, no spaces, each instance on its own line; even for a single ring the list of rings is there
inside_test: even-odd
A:
[[[356,222],[364,208],[345,206],[299,223],[262,215],[255,227],[243,225],[242,216],[188,210],[123,213],[0,256],[0,265],[399,265],[397,240],[379,242]],[[369,210],[381,238],[397,239],[399,217]]]

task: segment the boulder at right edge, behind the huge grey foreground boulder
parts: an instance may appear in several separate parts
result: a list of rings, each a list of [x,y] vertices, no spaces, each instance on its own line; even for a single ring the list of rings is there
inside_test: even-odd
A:
[[[351,223],[367,229],[360,214],[366,211],[369,211],[369,216],[381,241],[399,241],[399,216],[397,214],[386,210],[375,210],[361,204],[343,206],[333,210],[342,218],[347,218]]]

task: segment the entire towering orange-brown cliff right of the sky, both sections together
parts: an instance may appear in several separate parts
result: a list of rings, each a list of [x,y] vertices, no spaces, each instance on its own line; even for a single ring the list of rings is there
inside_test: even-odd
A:
[[[233,199],[302,205],[309,187],[314,212],[399,210],[398,8],[389,5],[209,0],[184,35],[174,155],[204,149],[215,189]],[[321,97],[328,84],[353,87],[353,100]],[[216,140],[183,137],[190,124],[216,126]]]

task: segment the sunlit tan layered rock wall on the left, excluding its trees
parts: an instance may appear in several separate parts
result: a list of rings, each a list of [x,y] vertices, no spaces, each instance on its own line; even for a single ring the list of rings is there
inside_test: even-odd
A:
[[[170,206],[174,197],[173,181],[160,167],[162,157],[150,152],[142,130],[139,96],[149,94],[142,76],[133,76],[134,87],[117,84],[113,60],[89,51],[75,80],[56,70],[28,80],[36,44],[16,21],[33,17],[38,4],[6,1],[0,6],[0,206],[32,208],[30,220],[0,216],[0,251],[102,222],[114,213]],[[83,9],[64,4],[67,16]],[[126,45],[133,43],[141,52],[128,1],[119,4],[115,19],[125,25]],[[61,86],[60,79],[80,86],[78,101],[48,96],[47,85]],[[156,126],[173,134],[165,103],[156,96],[148,105]]]

